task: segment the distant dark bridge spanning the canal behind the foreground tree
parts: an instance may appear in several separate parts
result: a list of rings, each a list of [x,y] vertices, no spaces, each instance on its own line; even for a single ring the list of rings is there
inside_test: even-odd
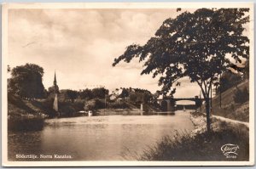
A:
[[[189,105],[181,105],[181,104],[176,104],[177,101],[181,100],[189,100],[189,101],[194,101],[195,104],[189,104]],[[180,110],[183,108],[194,108],[197,109],[201,106],[203,99],[198,98],[198,96],[195,96],[195,98],[173,98],[173,97],[165,97],[163,99],[158,99],[157,102],[160,104],[161,109],[163,111],[174,111],[174,110]]]

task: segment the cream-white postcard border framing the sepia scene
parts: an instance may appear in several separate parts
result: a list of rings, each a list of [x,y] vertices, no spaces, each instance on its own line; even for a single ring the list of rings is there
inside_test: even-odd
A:
[[[8,10],[11,8],[250,8],[249,161],[8,161],[7,59]],[[2,6],[2,165],[3,166],[252,166],[254,164],[253,3],[3,3]]]

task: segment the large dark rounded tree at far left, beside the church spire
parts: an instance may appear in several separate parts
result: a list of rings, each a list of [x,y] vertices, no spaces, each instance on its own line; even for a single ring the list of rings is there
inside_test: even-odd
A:
[[[9,90],[24,99],[44,98],[43,76],[44,69],[39,65],[26,64],[16,66],[11,70]]]

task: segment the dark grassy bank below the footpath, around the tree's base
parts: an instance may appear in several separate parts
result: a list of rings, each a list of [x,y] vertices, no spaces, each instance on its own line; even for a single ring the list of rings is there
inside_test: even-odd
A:
[[[248,128],[224,121],[212,120],[212,132],[205,129],[205,117],[192,115],[195,131],[166,136],[154,147],[146,149],[137,159],[140,161],[248,161]],[[226,158],[221,151],[224,144],[237,144],[236,158]]]

